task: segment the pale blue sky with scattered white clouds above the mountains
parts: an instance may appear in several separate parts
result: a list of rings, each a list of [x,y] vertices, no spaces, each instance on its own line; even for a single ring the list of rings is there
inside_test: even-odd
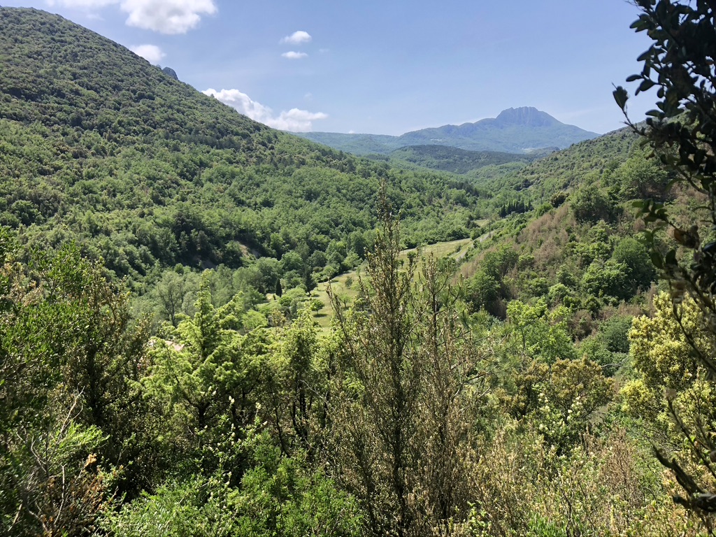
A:
[[[532,106],[604,133],[646,35],[626,0],[0,0],[60,14],[282,130],[400,135]],[[627,89],[629,85],[627,84]],[[633,87],[631,88],[634,89]],[[631,92],[630,92],[631,93]],[[654,108],[647,92],[630,117]]]

